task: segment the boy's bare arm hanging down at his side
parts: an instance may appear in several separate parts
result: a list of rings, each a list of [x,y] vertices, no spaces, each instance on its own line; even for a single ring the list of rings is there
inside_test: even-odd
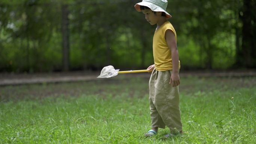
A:
[[[180,76],[179,76],[179,52],[175,40],[175,35],[173,31],[165,31],[165,39],[171,50],[171,58],[173,62],[173,72],[171,74],[170,84],[173,87],[180,85]]]

